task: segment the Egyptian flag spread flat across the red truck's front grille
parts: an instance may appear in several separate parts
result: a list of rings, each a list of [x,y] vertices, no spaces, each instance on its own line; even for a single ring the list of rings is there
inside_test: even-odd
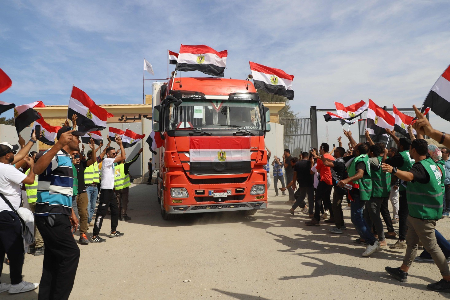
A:
[[[250,137],[190,137],[190,173],[250,173]]]

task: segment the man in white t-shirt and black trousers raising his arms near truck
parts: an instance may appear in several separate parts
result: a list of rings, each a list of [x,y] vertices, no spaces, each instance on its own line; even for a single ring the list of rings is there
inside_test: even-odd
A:
[[[94,230],[90,241],[92,243],[101,243],[106,241],[99,236],[102,227],[103,218],[109,209],[111,210],[111,232],[109,237],[123,236],[123,232],[118,232],[117,224],[119,223],[119,208],[117,207],[116,193],[114,192],[115,170],[114,163],[118,163],[126,159],[125,150],[123,149],[121,138],[116,134],[116,143],[120,147],[120,155],[117,156],[116,150],[112,147],[106,149],[106,158],[103,159],[100,182],[100,203],[97,207],[97,215],[95,216]]]

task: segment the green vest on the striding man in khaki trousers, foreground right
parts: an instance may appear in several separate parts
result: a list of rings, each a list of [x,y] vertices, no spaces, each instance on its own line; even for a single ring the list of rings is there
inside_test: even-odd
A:
[[[438,220],[442,217],[442,175],[433,159],[423,159],[419,163],[430,175],[430,182],[408,182],[406,200],[408,201],[410,216],[419,219]]]

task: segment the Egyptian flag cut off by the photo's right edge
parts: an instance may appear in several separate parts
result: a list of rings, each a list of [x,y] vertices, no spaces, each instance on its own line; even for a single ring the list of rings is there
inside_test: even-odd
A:
[[[423,102],[439,117],[450,121],[450,66],[437,79]]]

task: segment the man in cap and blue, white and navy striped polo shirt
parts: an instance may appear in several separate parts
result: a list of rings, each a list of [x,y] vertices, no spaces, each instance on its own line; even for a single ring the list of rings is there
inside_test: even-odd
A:
[[[39,299],[68,299],[75,281],[80,249],[72,236],[78,219],[72,209],[74,173],[70,152],[78,149],[82,132],[64,126],[57,142],[34,165],[39,174],[36,226],[45,243]]]

